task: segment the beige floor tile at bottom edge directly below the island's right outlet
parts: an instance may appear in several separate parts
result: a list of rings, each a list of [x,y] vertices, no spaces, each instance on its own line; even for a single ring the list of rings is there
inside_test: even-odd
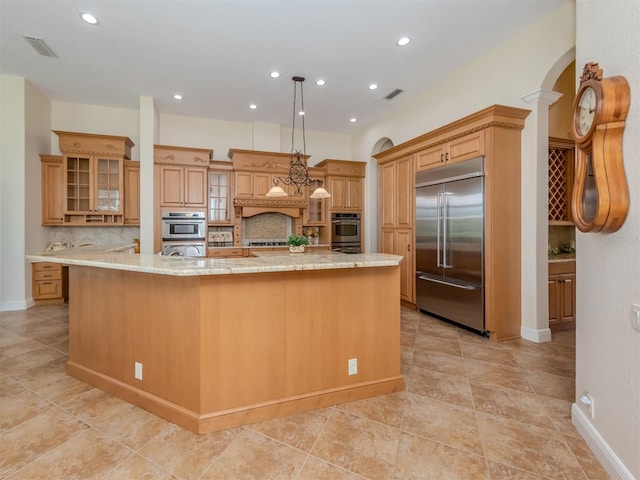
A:
[[[400,429],[336,410],[312,455],[370,479],[393,473]]]

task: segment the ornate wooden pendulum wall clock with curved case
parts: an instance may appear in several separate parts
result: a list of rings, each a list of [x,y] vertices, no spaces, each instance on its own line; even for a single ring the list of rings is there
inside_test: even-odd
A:
[[[584,66],[571,126],[577,147],[571,208],[582,232],[615,232],[627,217],[622,135],[629,101],[624,77],[603,78],[597,63]]]

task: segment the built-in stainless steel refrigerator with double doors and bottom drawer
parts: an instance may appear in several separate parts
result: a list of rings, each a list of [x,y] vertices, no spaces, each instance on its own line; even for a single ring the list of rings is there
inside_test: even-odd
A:
[[[486,335],[483,157],[416,174],[418,309]]]

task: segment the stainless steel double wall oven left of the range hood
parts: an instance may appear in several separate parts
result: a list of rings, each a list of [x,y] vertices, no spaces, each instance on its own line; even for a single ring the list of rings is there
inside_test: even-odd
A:
[[[162,212],[162,255],[207,256],[205,212]]]

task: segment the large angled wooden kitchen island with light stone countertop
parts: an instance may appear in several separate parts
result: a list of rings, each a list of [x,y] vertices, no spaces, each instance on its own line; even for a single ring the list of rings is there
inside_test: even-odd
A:
[[[403,389],[401,257],[27,259],[69,266],[67,373],[193,432]]]

